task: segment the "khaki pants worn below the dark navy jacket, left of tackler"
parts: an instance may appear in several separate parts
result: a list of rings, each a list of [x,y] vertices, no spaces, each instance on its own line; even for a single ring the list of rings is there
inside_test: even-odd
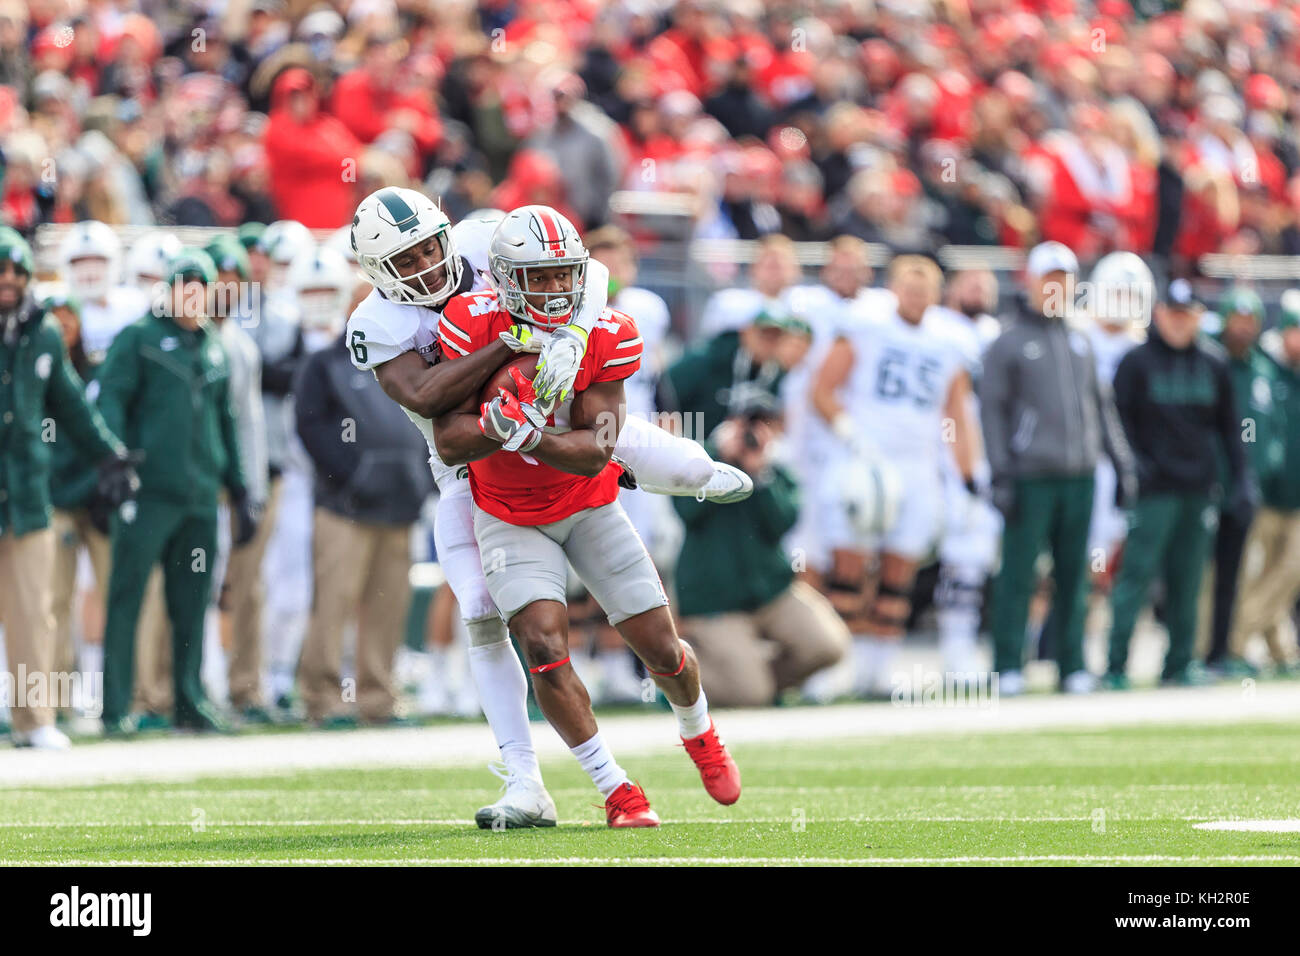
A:
[[[344,713],[354,700],[367,721],[393,715],[393,658],[411,601],[411,529],[363,524],[316,509],[312,622],[298,663],[307,715]],[[341,680],[343,627],[356,619],[356,687]]]

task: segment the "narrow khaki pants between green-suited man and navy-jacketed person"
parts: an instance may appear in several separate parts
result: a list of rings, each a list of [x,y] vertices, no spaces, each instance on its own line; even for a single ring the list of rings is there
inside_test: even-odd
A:
[[[226,580],[221,587],[221,610],[230,619],[230,657],[228,680],[230,705],[234,708],[260,708],[261,698],[261,611],[266,588],[261,578],[261,559],[266,542],[276,527],[276,506],[280,503],[280,481],[270,485],[266,510],[257,524],[257,533],[243,548],[231,548],[226,564]],[[234,538],[234,510],[230,514]]]

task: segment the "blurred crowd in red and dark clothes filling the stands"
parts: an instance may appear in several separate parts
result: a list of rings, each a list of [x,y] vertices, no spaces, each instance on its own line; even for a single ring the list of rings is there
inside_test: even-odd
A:
[[[1190,0],[3,0],[4,217],[676,194],[703,237],[1300,252],[1300,23]],[[571,174],[581,169],[581,176]],[[641,237],[649,238],[649,237]]]

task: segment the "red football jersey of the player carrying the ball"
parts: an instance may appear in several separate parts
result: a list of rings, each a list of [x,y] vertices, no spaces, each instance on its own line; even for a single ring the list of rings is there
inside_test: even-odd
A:
[[[447,359],[484,349],[515,323],[493,291],[463,293],[442,311],[438,341]],[[627,378],[641,368],[641,333],[630,316],[611,308],[595,323],[573,392]],[[551,419],[554,424],[554,416]],[[474,503],[510,524],[560,522],[582,509],[608,505],[619,497],[623,468],[610,462],[599,475],[585,477],[552,468],[521,451],[495,451],[469,463]]]

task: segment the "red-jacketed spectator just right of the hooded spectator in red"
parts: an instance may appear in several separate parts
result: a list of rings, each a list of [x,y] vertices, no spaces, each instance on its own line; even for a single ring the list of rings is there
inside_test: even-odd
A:
[[[330,112],[363,143],[373,143],[386,130],[402,130],[415,142],[422,161],[442,142],[442,121],[430,92],[437,78],[413,82],[420,70],[412,69],[415,64],[399,69],[398,61],[391,40],[369,38],[361,65],[334,85]]]

